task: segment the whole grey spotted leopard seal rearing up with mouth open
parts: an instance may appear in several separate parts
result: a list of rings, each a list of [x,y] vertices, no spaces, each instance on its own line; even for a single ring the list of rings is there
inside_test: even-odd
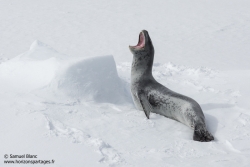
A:
[[[193,140],[208,142],[214,137],[206,128],[200,105],[190,97],[176,93],[158,83],[152,75],[154,46],[146,30],[139,34],[136,46],[129,46],[133,54],[131,94],[137,109],[157,113],[181,122],[194,130]]]

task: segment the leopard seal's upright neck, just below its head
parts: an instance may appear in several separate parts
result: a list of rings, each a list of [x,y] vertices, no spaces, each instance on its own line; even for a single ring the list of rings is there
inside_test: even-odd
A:
[[[134,55],[132,68],[131,68],[131,80],[137,81],[139,79],[153,79],[152,66],[154,61],[154,55],[145,54],[140,57]]]

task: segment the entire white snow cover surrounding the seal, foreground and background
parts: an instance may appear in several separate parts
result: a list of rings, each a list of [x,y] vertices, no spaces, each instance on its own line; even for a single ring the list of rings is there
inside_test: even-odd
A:
[[[0,1],[0,166],[33,166],[5,154],[65,167],[249,166],[249,5]],[[201,105],[214,141],[135,109],[128,45],[142,29],[155,79]]]

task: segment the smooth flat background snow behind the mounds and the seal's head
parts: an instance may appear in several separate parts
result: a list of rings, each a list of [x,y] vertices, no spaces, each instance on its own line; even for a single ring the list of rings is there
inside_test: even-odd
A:
[[[249,7],[248,0],[0,0],[0,57],[39,39],[71,57],[130,62],[128,45],[146,29],[156,62],[249,69],[242,61],[250,53]]]

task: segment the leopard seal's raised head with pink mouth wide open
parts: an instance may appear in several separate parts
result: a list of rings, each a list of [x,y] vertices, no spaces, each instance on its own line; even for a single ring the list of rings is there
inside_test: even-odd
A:
[[[154,46],[146,30],[142,30],[139,34],[139,41],[136,46],[129,46],[130,51],[136,57],[154,56]]]

